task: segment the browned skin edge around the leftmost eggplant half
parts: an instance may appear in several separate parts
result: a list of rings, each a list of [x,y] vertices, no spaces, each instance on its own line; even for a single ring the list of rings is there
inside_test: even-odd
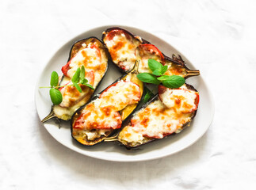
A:
[[[97,44],[99,44],[99,47],[100,49],[102,50],[102,52],[105,54],[105,57],[106,57],[106,68],[105,68],[105,72],[104,74],[102,74],[102,77],[101,77],[101,81],[98,82],[97,86],[95,87],[95,90],[97,89],[98,86],[100,86],[103,78],[105,77],[105,74],[109,68],[109,56],[108,56],[108,50],[106,49],[105,45],[101,42],[101,40],[98,40],[97,37],[89,37],[89,38],[85,38],[85,39],[82,39],[82,40],[78,40],[75,42],[75,44],[72,45],[71,47],[71,51],[69,53],[69,58],[67,59],[67,62],[69,62],[72,58],[75,57],[75,55],[77,54],[77,52],[81,49],[81,48],[84,48],[82,47],[82,44],[89,44],[90,42],[94,43],[94,42],[97,42]],[[61,81],[59,82],[60,84],[63,82],[63,79],[64,78],[67,78],[63,75]],[[76,111],[79,107],[81,107],[82,105],[85,105],[86,102],[90,101],[91,97],[93,96],[95,90],[91,90],[91,92],[89,93],[89,97],[86,96],[84,98],[82,98],[82,100],[78,101],[78,103],[76,105],[74,105],[74,110]],[[57,117],[58,119],[60,120],[71,120],[71,116],[74,114],[75,111],[71,111],[72,113],[63,113],[63,115],[60,115],[58,114],[57,112],[60,110],[63,110],[63,112],[69,112],[69,109],[72,109],[73,106],[71,106],[71,108],[61,108],[59,105],[53,105],[52,106],[52,110],[53,110],[53,113],[55,115],[55,117]],[[57,110],[58,109],[58,110]]]

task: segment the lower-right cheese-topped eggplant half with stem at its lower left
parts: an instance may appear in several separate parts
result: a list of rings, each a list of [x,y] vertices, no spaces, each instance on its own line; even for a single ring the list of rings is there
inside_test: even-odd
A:
[[[196,116],[199,93],[185,84],[178,89],[159,86],[159,94],[123,124],[122,130],[105,141],[117,141],[127,149],[179,133]]]

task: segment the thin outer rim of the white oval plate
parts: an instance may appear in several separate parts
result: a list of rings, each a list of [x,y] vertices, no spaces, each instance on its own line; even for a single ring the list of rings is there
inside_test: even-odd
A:
[[[56,47],[56,50],[54,51],[54,53],[51,54],[51,56],[49,56],[46,62],[46,64],[44,64],[44,67],[43,67],[43,70],[40,72],[40,75],[39,77],[37,78],[37,81],[36,81],[36,88],[35,88],[35,91],[34,91],[34,102],[35,102],[35,105],[36,105],[36,112],[37,112],[37,116],[39,117],[39,119],[41,120],[40,118],[40,115],[39,115],[39,112],[38,112],[38,105],[36,104],[36,93],[38,93],[38,89],[37,87],[39,86],[39,83],[40,83],[40,78],[41,76],[44,74],[44,70],[47,70],[48,68],[48,65],[50,64],[51,60],[55,57],[55,55],[63,48],[65,47],[67,44],[69,44],[71,41],[75,41],[75,39],[78,38],[78,36],[82,36],[82,34],[86,33],[86,32],[90,32],[91,30],[97,30],[99,28],[111,28],[111,27],[120,27],[120,28],[132,28],[132,29],[135,29],[135,30],[139,30],[139,31],[142,31],[142,32],[147,32],[145,31],[143,28],[136,28],[136,27],[133,27],[133,26],[130,26],[130,25],[100,25],[100,26],[94,26],[92,28],[87,28],[86,31],[83,31],[83,32],[80,32],[78,34],[75,34],[75,36],[73,36],[71,39],[65,41],[63,44],[59,45]],[[103,32],[103,31],[102,31]],[[152,34],[151,32],[147,32],[148,34],[150,34],[151,36],[154,36],[155,38],[159,38],[160,40],[162,40],[161,37],[159,36],[155,36],[155,34]],[[100,39],[101,40],[101,39]],[[166,40],[163,40],[166,42]],[[170,44],[168,42],[166,42],[166,44],[170,45],[171,47],[173,47],[176,51],[178,51],[181,55],[182,55],[182,58],[184,59],[187,59],[187,57],[185,55],[183,55],[181,53],[181,51],[179,51],[178,48],[174,47],[173,44]],[[194,67],[194,64],[190,61],[190,59],[187,59],[189,60],[189,64],[192,65]],[[111,64],[111,63],[110,63]],[[184,146],[181,146],[181,148],[179,150],[175,150],[175,151],[172,151],[172,152],[167,152],[166,154],[160,154],[160,155],[157,155],[157,156],[151,156],[151,157],[148,157],[148,158],[132,158],[132,157],[128,157],[128,159],[116,159],[116,158],[102,158],[101,156],[98,156],[97,154],[94,155],[94,152],[90,152],[90,151],[87,151],[87,152],[84,152],[80,149],[75,149],[75,148],[72,148],[71,146],[68,146],[67,143],[65,142],[60,142],[59,139],[56,139],[55,136],[52,134],[51,131],[48,130],[48,127],[45,126],[45,124],[42,124],[44,126],[44,128],[46,129],[46,131],[48,131],[48,133],[50,135],[52,135],[52,138],[55,139],[57,142],[59,142],[61,145],[63,146],[66,146],[67,148],[69,148],[70,150],[73,150],[79,154],[82,154],[82,155],[86,155],[90,158],[97,158],[97,159],[100,159],[100,160],[104,160],[104,161],[117,161],[117,162],[133,162],[133,161],[151,161],[151,160],[155,160],[155,159],[159,159],[159,158],[165,158],[167,156],[170,156],[170,155],[173,155],[173,154],[177,154],[179,152],[181,152],[181,150],[185,150],[186,148],[188,148],[189,146],[192,146],[195,142],[197,142],[199,139],[201,139],[201,137],[206,133],[206,131],[208,131],[208,128],[212,125],[212,121],[214,119],[214,116],[215,116],[215,104],[214,104],[214,98],[212,96],[212,91],[211,89],[209,89],[209,87],[206,85],[207,82],[205,82],[205,78],[202,77],[202,74],[201,74],[201,79],[202,81],[205,83],[205,87],[208,91],[208,97],[209,97],[209,100],[208,101],[211,105],[211,111],[212,111],[212,116],[211,116],[211,120],[208,124],[208,127],[205,127],[204,128],[204,131],[201,131],[201,134],[197,136],[197,139],[193,139],[193,142],[190,142],[189,144],[185,144]]]

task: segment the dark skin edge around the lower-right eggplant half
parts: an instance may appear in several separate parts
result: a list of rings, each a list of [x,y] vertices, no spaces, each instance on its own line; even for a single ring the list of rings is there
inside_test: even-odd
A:
[[[195,89],[193,86],[189,85],[189,84],[186,84],[185,83],[185,86],[188,88],[188,89],[191,89],[195,92],[198,92],[197,89]],[[127,126],[128,124],[131,123],[131,120],[132,120],[132,117],[136,115],[137,112],[139,112],[141,109],[143,108],[146,108],[147,105],[150,105],[152,102],[154,101],[157,101],[159,100],[159,93],[157,93],[154,97],[151,97],[151,100],[147,101],[146,104],[144,104],[141,108],[139,108],[139,110],[137,110],[135,113],[132,114],[132,116],[129,116],[125,121],[124,123],[122,124],[122,127],[121,129],[123,129],[125,126]],[[197,108],[198,109],[198,108]],[[170,135],[166,135],[164,136],[162,139],[165,139],[167,137],[170,137],[170,136],[173,136],[173,135],[178,135],[179,132],[183,131],[186,127],[189,127],[191,122],[193,121],[194,117],[197,115],[197,110],[195,110],[194,112],[191,113],[192,116],[191,116],[191,119],[189,120],[189,122],[183,124],[183,126],[180,128],[180,130],[177,132],[175,131],[174,133],[170,134]],[[120,134],[120,132],[119,132]],[[118,134],[118,136],[119,136]],[[118,137],[117,136],[117,137]],[[127,150],[136,150],[137,148],[139,148],[140,146],[143,146],[145,144],[148,144],[149,142],[157,142],[161,139],[154,139],[154,138],[145,138],[145,141],[142,143],[142,144],[139,144],[137,143],[136,145],[132,145],[132,142],[122,142],[122,140],[118,139],[116,142],[117,144],[119,144],[120,146],[124,146]]]

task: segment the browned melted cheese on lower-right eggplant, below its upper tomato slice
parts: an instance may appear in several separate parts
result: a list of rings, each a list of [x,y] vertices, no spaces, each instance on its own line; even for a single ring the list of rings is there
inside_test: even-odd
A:
[[[153,101],[146,108],[136,112],[130,126],[120,132],[120,140],[142,144],[144,139],[162,139],[165,135],[179,131],[183,124],[191,120],[190,113],[178,114],[166,108],[162,101]],[[143,136],[143,139],[141,137]]]

